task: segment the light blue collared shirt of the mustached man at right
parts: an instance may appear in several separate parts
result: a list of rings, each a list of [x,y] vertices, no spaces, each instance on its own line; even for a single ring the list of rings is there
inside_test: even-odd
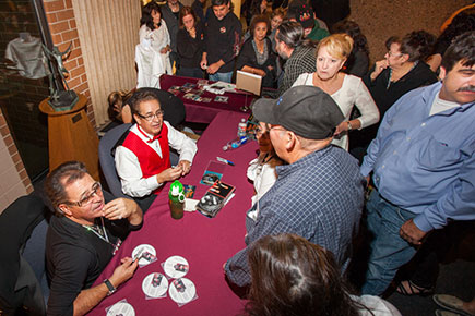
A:
[[[361,166],[385,199],[417,215],[423,231],[475,219],[475,102],[429,116],[441,86],[395,102]]]

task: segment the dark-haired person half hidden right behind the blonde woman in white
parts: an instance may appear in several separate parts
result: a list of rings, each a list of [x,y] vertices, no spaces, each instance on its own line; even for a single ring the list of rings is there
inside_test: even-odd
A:
[[[368,40],[359,25],[352,20],[343,20],[333,25],[333,33],[345,33],[353,38],[353,50],[343,66],[343,72],[363,77],[369,68]]]

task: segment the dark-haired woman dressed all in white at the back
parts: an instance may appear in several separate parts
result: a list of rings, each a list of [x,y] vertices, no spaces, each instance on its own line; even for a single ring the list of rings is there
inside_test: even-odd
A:
[[[135,47],[138,87],[158,87],[158,77],[165,72],[171,74],[171,48],[170,36],[157,3],[151,1],[142,9],[140,25],[140,44]]]

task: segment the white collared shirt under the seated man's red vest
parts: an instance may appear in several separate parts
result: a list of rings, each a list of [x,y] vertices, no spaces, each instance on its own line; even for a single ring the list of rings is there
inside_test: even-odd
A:
[[[197,145],[183,133],[175,130],[168,122],[164,121],[164,124],[168,127],[168,143],[171,148],[176,149],[180,155],[180,161],[188,160],[192,162],[198,150]],[[136,124],[130,127],[130,132],[138,135],[162,157],[162,148],[159,147],[158,141],[156,139],[152,143],[146,142],[152,138],[152,135],[141,133]],[[139,159],[130,149],[123,146],[117,147],[115,159],[117,174],[120,178],[122,192],[124,194],[133,197],[142,197],[151,194],[152,191],[163,185],[163,183],[157,182],[156,175],[143,178]]]

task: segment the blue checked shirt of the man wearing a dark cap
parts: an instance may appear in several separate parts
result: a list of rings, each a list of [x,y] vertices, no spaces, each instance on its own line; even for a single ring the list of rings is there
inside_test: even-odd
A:
[[[264,235],[295,233],[331,251],[344,270],[364,199],[357,160],[329,146],[277,166],[276,172],[275,184],[253,206],[260,208],[257,220],[246,217],[246,244]],[[249,284],[247,248],[234,255],[225,270],[237,285]]]

